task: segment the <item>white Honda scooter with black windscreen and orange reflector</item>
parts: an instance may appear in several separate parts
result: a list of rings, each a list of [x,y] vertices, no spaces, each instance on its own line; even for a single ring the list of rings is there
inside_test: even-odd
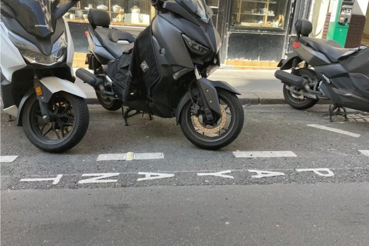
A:
[[[32,144],[56,153],[76,146],[89,125],[63,18],[78,0],[59,2],[0,1],[0,106],[17,118]]]

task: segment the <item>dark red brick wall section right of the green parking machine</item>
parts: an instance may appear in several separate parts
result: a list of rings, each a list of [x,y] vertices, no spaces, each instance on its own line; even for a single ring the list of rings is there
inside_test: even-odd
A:
[[[356,48],[361,45],[361,39],[364,33],[365,16],[352,15],[348,28],[345,48]]]

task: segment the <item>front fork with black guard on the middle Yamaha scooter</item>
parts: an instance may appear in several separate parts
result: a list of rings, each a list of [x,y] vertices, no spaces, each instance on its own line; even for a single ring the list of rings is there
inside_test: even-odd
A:
[[[196,76],[196,86],[199,90],[203,111],[208,121],[214,119],[212,111],[221,115],[220,102],[217,89],[205,78],[202,78],[195,66],[194,73]]]

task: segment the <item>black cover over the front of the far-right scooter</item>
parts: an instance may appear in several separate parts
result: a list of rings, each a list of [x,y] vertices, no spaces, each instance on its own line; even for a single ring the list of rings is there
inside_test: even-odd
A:
[[[345,85],[349,91],[369,98],[369,47],[361,46],[346,52],[339,63],[348,71],[351,84]]]

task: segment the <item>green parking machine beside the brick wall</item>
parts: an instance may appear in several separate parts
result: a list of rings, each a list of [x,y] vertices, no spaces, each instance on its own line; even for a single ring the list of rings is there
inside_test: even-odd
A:
[[[348,27],[355,0],[333,0],[327,39],[337,41],[345,47]]]

